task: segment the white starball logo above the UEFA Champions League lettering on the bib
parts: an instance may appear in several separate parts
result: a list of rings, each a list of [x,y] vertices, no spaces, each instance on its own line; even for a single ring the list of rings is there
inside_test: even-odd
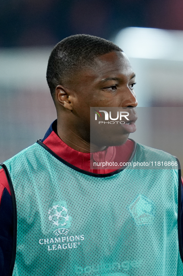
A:
[[[48,212],[50,222],[57,226],[64,226],[70,221],[67,208],[61,205],[54,205]]]

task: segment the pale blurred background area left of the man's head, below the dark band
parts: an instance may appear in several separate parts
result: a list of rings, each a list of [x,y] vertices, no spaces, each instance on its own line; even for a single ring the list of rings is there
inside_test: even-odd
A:
[[[0,49],[0,162],[42,139],[56,119],[46,82],[52,48]]]

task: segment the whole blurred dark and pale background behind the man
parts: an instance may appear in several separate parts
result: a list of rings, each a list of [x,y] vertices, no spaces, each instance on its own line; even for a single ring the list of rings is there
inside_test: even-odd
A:
[[[2,0],[0,161],[43,138],[56,119],[46,83],[50,51],[63,38],[85,33],[111,40],[127,54],[140,107],[173,108],[159,125],[159,113],[139,111],[143,120],[132,138],[183,164],[182,14],[181,0]]]

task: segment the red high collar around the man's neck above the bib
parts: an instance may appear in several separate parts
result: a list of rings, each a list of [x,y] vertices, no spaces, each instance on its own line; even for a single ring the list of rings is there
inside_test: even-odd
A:
[[[69,162],[73,166],[80,168],[81,170],[104,174],[116,171],[119,166],[113,169],[90,169],[90,159],[93,161],[107,160],[114,162],[128,162],[134,149],[134,142],[127,140],[127,142],[121,146],[108,147],[104,151],[94,152],[92,157],[90,153],[78,152],[64,143],[59,136],[55,133],[56,121],[51,124],[42,142],[50,148],[56,155]]]

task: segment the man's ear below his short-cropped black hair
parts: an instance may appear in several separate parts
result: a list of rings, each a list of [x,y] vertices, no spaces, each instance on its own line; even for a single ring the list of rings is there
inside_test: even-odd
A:
[[[72,103],[70,102],[70,91],[68,88],[58,85],[55,88],[55,101],[68,110],[72,110]]]

